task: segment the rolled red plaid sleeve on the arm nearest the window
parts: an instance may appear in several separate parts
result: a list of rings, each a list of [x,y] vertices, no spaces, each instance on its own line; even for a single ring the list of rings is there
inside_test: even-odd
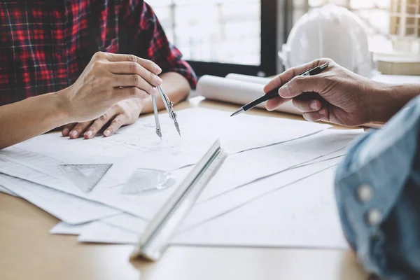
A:
[[[127,38],[132,40],[128,44],[131,53],[152,60],[162,68],[162,73],[180,73],[188,80],[190,87],[195,88],[197,76],[182,59],[181,52],[168,41],[151,6],[144,1],[130,0],[126,11],[123,26],[127,30]]]

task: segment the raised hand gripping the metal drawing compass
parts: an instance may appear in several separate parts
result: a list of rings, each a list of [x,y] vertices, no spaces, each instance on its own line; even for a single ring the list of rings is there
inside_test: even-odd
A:
[[[124,99],[146,99],[162,83],[158,65],[135,55],[97,52],[76,82],[62,90],[68,123],[104,115]]]

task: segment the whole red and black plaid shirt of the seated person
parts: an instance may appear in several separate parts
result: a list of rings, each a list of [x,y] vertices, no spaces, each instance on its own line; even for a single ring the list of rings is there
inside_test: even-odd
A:
[[[151,59],[162,72],[193,69],[141,0],[0,0],[0,106],[73,84],[94,52]]]

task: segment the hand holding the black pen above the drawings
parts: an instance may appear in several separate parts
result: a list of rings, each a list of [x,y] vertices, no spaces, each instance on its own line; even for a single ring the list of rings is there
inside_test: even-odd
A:
[[[318,75],[297,76],[324,63],[328,63],[328,68]],[[381,121],[377,110],[384,109],[384,103],[390,99],[384,84],[358,76],[331,59],[317,59],[288,69],[265,85],[264,91],[269,92],[281,85],[279,97],[267,102],[269,111],[291,99],[306,120],[323,120],[338,125],[356,126]]]

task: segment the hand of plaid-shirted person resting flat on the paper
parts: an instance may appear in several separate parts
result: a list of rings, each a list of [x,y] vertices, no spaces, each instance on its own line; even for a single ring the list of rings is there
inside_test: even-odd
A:
[[[109,137],[121,126],[133,124],[139,118],[142,108],[141,99],[123,100],[96,120],[65,125],[62,135],[64,137],[69,136],[71,139],[76,139],[83,135],[85,139],[91,139],[100,130],[104,129],[104,136]]]

